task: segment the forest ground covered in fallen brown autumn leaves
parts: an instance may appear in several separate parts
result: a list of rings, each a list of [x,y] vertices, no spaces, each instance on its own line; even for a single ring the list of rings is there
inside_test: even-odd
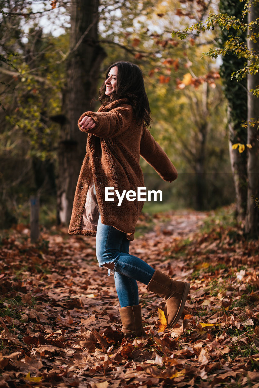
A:
[[[163,315],[158,319],[164,301],[139,283],[147,337],[129,341],[121,335],[114,276],[98,268],[95,238],[52,227],[32,245],[28,229],[8,231],[0,249],[0,387],[209,388],[230,376],[242,386],[247,376],[258,381],[258,348],[252,350],[247,329],[259,336],[258,242],[231,226],[232,210],[140,217],[136,230],[150,222],[154,229],[136,237],[130,253],[191,288],[186,315],[169,328]]]

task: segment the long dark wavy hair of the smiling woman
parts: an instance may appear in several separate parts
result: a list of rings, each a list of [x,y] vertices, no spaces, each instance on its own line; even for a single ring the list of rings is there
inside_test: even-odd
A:
[[[106,78],[108,78],[108,74],[114,66],[118,68],[116,91],[111,96],[106,96],[106,87],[105,83],[103,83],[99,90],[99,100],[103,105],[106,105],[114,100],[127,98],[133,106],[138,125],[148,127],[151,120],[150,107],[141,69],[134,63],[118,61],[107,69]]]

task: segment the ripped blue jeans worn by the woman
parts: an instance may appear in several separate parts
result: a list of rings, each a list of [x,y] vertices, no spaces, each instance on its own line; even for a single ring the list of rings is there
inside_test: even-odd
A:
[[[121,307],[138,305],[136,281],[148,284],[155,270],[140,258],[129,255],[129,240],[124,232],[104,225],[99,217],[96,234],[96,256],[99,267],[114,273]]]

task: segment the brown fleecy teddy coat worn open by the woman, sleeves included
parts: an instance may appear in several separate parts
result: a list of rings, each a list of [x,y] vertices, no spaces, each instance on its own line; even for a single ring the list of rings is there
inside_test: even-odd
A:
[[[84,116],[93,118],[94,128],[81,128],[79,123]],[[103,224],[112,225],[133,240],[144,202],[128,201],[125,195],[121,206],[117,206],[119,199],[115,190],[121,195],[123,190],[137,192],[138,187],[145,186],[140,155],[166,181],[177,178],[176,168],[147,128],[136,123],[133,107],[127,99],[101,106],[97,113],[85,112],[79,118],[78,126],[81,131],[88,132],[88,138],[69,233],[96,236],[100,212]],[[114,201],[105,201],[105,187],[114,187]]]

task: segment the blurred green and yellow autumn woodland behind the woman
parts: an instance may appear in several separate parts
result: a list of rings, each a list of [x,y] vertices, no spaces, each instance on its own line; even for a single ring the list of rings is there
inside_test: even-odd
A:
[[[150,131],[179,172],[168,184],[141,161],[147,189],[163,191],[161,210],[233,203],[226,65],[220,57],[202,55],[224,36],[219,28],[190,32],[185,40],[171,36],[173,29],[218,12],[218,2],[100,0],[90,2],[87,15],[83,3],[0,0],[0,226],[28,222],[32,193],[40,196],[42,223],[67,223],[86,140],[76,137],[69,109],[77,116],[98,109],[98,87],[118,59],[141,67],[152,111]],[[78,31],[73,25],[80,26]],[[81,86],[73,71],[85,74]]]

